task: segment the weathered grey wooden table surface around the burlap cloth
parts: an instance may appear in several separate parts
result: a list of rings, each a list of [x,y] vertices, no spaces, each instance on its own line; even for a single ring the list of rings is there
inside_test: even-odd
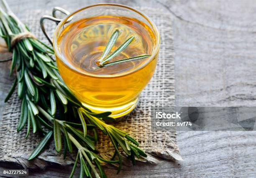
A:
[[[256,3],[254,0],[8,0],[21,16],[30,8],[77,9],[92,3],[162,8],[172,15],[177,106],[256,106]],[[11,78],[0,63],[0,111]],[[2,113],[2,112],[1,112]],[[256,177],[256,132],[178,132],[184,161],[138,164],[109,178]],[[4,169],[9,164],[1,164]],[[52,166],[30,177],[68,177],[71,166]],[[78,174],[76,174],[78,176]]]

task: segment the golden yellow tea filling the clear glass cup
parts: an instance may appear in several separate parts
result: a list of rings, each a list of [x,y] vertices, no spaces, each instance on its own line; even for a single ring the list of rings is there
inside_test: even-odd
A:
[[[152,54],[156,39],[148,25],[133,18],[98,16],[67,25],[57,41],[64,61],[56,56],[61,77],[79,100],[92,111],[111,111],[114,118],[136,106],[157,61],[157,58],[149,61],[149,57],[93,69],[117,29],[120,33],[109,54],[131,36],[134,40],[110,62]]]

